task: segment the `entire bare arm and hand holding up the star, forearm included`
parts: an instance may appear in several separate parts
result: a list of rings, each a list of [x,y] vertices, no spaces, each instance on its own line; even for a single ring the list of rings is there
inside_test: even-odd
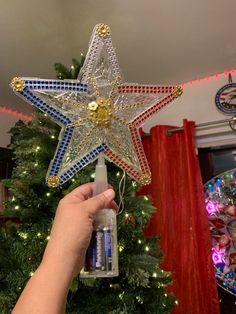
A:
[[[12,313],[65,312],[71,279],[83,267],[96,213],[117,209],[112,189],[92,197],[93,188],[94,183],[84,184],[60,201],[43,260]]]

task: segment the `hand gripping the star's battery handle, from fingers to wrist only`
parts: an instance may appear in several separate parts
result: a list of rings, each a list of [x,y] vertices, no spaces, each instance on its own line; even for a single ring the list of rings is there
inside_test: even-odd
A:
[[[84,184],[60,201],[42,261],[61,265],[71,277],[84,265],[96,213],[103,208],[117,209],[112,189],[92,197],[93,188],[94,183]]]

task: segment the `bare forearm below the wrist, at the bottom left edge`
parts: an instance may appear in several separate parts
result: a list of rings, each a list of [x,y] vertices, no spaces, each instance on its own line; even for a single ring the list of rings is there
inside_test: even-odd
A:
[[[42,262],[21,294],[13,314],[62,314],[73,273],[64,265]]]

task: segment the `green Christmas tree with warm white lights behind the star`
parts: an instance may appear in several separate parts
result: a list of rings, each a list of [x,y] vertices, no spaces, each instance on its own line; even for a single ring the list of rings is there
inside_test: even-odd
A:
[[[73,60],[70,69],[56,64],[59,79],[76,79],[84,61]],[[11,179],[0,233],[0,308],[8,314],[29,277],[39,265],[50,234],[59,200],[75,187],[92,181],[95,165],[78,172],[63,187],[45,184],[48,165],[57,146],[59,126],[36,112],[30,122],[19,121],[11,130],[11,149],[16,167]],[[163,254],[157,237],[145,237],[143,229],[156,210],[150,197],[137,196],[139,185],[107,163],[108,180],[116,191],[118,214],[119,276],[74,278],[68,295],[67,313],[169,313],[177,301],[165,287],[171,274],[160,268]],[[124,187],[122,191],[122,187]],[[60,274],[55,274],[60,276]]]

